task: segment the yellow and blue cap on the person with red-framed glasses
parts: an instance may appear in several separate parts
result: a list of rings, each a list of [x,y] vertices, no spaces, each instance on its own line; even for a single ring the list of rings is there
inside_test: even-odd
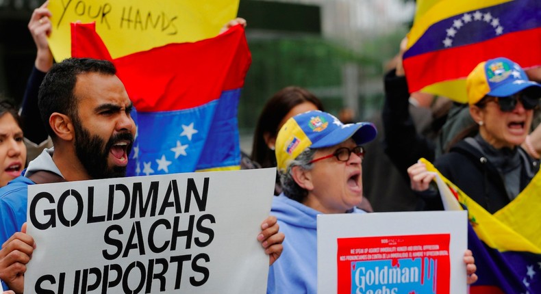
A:
[[[331,147],[350,137],[355,143],[364,144],[376,135],[376,127],[370,122],[342,124],[338,118],[319,110],[297,114],[278,132],[275,144],[278,170],[286,172],[290,162],[306,148]]]

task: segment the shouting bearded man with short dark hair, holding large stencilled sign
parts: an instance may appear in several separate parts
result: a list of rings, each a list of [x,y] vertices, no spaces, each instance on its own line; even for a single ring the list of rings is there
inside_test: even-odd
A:
[[[70,58],[55,64],[40,86],[38,103],[54,147],[0,189],[0,279],[15,293],[23,293],[26,264],[36,247],[25,233],[28,185],[125,176],[136,133],[133,106],[108,61]],[[284,234],[275,217],[261,228],[257,239],[272,264]]]

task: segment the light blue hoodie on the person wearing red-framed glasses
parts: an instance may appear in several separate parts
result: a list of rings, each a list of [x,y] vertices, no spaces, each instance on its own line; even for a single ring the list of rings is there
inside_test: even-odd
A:
[[[351,213],[364,213],[354,208]],[[267,293],[310,293],[318,288],[317,215],[321,214],[284,193],[273,199],[271,215],[284,232],[284,251],[268,271]]]

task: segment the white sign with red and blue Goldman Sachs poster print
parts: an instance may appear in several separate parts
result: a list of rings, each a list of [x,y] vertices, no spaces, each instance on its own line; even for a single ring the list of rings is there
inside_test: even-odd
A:
[[[465,294],[466,211],[318,215],[318,293]]]

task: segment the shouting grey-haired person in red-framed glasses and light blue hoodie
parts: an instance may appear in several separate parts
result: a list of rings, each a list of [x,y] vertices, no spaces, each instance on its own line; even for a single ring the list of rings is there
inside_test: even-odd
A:
[[[316,293],[316,217],[322,213],[365,213],[362,144],[376,137],[370,122],[342,124],[323,111],[290,118],[276,139],[276,159],[284,190],[273,198],[271,215],[288,236],[284,252],[268,274],[267,293]],[[475,282],[471,252],[464,254],[468,283]]]

